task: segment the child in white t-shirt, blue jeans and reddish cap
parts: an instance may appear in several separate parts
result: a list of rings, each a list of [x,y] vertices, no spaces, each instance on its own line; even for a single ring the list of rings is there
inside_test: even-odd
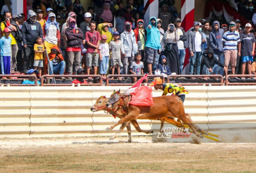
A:
[[[99,60],[100,60],[100,75],[103,79],[106,79],[106,73],[109,69],[109,60],[110,60],[110,49],[109,44],[106,43],[105,34],[101,35],[101,44],[99,44]]]

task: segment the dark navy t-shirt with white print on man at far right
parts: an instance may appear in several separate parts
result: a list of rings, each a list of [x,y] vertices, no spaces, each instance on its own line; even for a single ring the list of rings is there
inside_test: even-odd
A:
[[[253,34],[241,33],[240,40],[241,40],[241,56],[252,56],[251,55],[252,44],[253,42],[255,42],[255,38]]]

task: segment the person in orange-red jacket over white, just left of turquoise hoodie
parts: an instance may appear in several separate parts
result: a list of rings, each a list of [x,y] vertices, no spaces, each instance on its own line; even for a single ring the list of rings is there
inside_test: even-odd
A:
[[[144,49],[145,49],[145,42],[146,42],[146,35],[144,31],[144,20],[139,19],[137,21],[137,27],[134,30],[136,43],[138,45],[138,51],[141,54],[141,60],[144,61]]]

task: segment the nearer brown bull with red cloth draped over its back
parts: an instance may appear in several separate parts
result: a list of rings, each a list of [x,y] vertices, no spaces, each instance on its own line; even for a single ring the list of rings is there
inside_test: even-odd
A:
[[[106,104],[107,107],[125,107],[127,106],[127,116],[120,119],[116,124],[106,128],[107,131],[111,131],[115,126],[129,122],[136,119],[150,119],[156,120],[163,117],[175,117],[180,119],[184,124],[187,124],[193,132],[202,137],[197,130],[199,127],[193,123],[190,116],[185,114],[182,101],[173,96],[161,96],[153,97],[154,104],[151,106],[137,106],[128,104],[129,97],[119,92],[114,92],[112,97]],[[161,130],[161,129],[160,129]]]

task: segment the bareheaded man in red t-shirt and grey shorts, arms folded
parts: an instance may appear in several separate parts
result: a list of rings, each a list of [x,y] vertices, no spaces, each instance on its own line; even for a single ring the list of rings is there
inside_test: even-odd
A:
[[[88,49],[86,51],[86,68],[87,74],[90,74],[90,68],[93,66],[94,74],[97,74],[97,69],[99,66],[99,41],[101,40],[100,34],[96,29],[95,21],[91,21],[89,24],[90,31],[86,33],[86,44]]]

